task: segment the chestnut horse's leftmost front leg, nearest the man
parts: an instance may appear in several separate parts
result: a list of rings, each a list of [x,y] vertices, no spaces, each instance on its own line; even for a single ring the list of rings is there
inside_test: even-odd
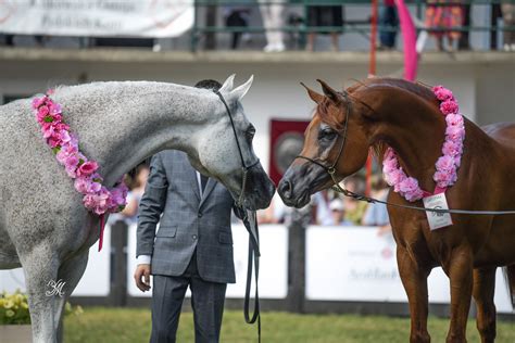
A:
[[[410,303],[410,342],[428,343],[431,341],[429,332],[427,332],[427,277],[430,269],[424,268],[418,262],[414,261],[407,250],[400,244],[397,247],[397,263]]]

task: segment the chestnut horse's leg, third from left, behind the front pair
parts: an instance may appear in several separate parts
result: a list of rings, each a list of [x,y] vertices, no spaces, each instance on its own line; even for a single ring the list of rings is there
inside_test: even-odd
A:
[[[477,305],[477,329],[482,343],[495,341],[495,269],[474,269],[473,295]]]

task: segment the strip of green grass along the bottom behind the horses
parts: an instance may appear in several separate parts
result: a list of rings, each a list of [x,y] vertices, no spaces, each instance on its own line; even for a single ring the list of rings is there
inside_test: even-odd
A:
[[[449,321],[429,318],[432,342],[444,342]],[[80,316],[65,319],[64,342],[148,342],[150,310],[145,308],[86,307]],[[280,343],[407,342],[409,318],[354,315],[262,314],[262,341]],[[177,342],[194,342],[191,313],[180,316]],[[468,342],[480,342],[473,320],[467,326]],[[256,342],[256,327],[243,320],[243,313],[226,310],[222,342]],[[498,343],[515,342],[515,322],[498,321]]]

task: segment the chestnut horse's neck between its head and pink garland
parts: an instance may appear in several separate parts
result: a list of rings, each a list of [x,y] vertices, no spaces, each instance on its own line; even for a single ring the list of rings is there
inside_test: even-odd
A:
[[[405,173],[423,189],[432,191],[435,163],[445,138],[445,120],[439,110],[413,94],[389,97],[378,112],[384,119],[375,130],[376,140],[393,148]]]

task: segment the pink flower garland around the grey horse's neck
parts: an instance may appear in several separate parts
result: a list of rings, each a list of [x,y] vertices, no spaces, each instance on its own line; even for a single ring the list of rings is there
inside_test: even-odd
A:
[[[61,105],[46,94],[33,100],[33,109],[43,138],[68,177],[75,180],[75,189],[84,195],[85,207],[99,216],[122,211],[127,203],[127,186],[123,180],[112,190],[102,186],[103,179],[97,173],[99,165],[78,150],[77,137],[62,122]]]

